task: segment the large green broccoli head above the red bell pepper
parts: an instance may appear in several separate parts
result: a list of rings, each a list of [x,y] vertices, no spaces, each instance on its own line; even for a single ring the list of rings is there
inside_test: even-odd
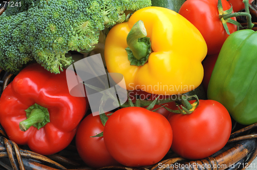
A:
[[[52,73],[70,65],[68,51],[89,52],[100,31],[125,21],[124,11],[151,6],[151,0],[12,0],[0,15],[0,67],[17,74],[30,62]]]

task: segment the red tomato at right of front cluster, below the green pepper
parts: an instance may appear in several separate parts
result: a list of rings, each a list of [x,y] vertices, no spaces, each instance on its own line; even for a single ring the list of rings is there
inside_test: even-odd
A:
[[[172,150],[183,158],[193,160],[206,158],[221,150],[232,129],[230,115],[221,103],[199,101],[193,113],[174,114],[169,119],[173,131]]]

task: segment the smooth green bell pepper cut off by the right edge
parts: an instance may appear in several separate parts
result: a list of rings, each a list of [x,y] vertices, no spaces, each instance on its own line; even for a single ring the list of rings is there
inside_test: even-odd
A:
[[[238,123],[257,122],[257,31],[236,31],[226,39],[207,96],[221,102]]]

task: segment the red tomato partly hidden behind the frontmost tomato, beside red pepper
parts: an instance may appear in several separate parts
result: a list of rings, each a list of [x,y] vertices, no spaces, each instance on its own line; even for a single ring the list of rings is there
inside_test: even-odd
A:
[[[111,112],[107,112],[109,114]],[[109,117],[109,116],[107,116]],[[79,125],[76,134],[76,147],[81,159],[90,167],[100,168],[120,165],[106,150],[103,137],[90,137],[103,132],[100,116],[90,114]]]

